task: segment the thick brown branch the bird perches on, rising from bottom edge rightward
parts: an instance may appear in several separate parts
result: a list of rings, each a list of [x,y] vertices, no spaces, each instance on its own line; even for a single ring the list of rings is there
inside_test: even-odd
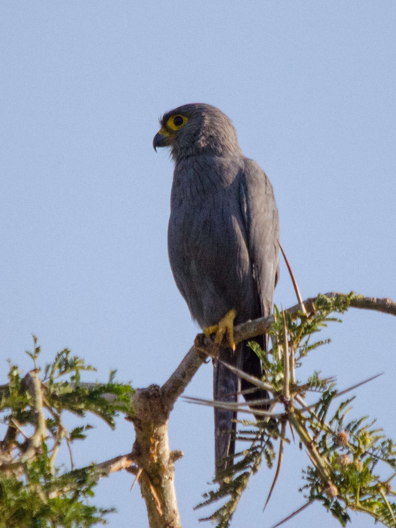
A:
[[[326,294],[326,297],[335,295],[348,297],[336,293]],[[315,310],[316,299],[312,297],[304,301],[308,313]],[[396,315],[396,304],[390,299],[354,297],[350,300],[350,306]],[[300,317],[301,304],[285,310],[285,313],[294,318]],[[274,316],[270,315],[235,326],[235,343],[266,334],[273,322]],[[143,478],[139,479],[139,485],[146,501],[150,528],[181,526],[173,484],[174,467],[168,445],[167,421],[175,401],[196,371],[206,358],[215,355],[216,350],[210,338],[199,334],[195,338],[194,346],[161,388],[151,385],[147,389],[137,390],[131,396],[135,409],[134,416],[130,417],[136,431],[134,453],[138,454],[135,461],[138,467],[143,469]]]

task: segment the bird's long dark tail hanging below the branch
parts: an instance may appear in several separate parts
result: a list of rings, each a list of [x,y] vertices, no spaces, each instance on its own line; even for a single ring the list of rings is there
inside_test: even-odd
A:
[[[260,343],[266,350],[266,343]],[[259,357],[248,347],[247,342],[239,343],[237,350],[220,349],[219,359],[225,363],[237,366],[239,369],[261,378],[262,366]],[[251,383],[241,380],[219,361],[213,361],[213,399],[218,401],[236,402],[238,392],[253,388]],[[244,396],[246,401],[268,398],[268,393],[257,389]],[[268,406],[255,406],[256,409],[267,409]],[[215,473],[233,464],[230,457],[235,452],[235,431],[237,413],[226,409],[214,408],[214,460]]]

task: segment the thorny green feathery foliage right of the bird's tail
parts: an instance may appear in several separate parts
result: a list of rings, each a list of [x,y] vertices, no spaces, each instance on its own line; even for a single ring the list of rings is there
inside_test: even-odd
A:
[[[396,504],[388,498],[396,495],[391,488],[391,480],[396,474],[393,442],[382,435],[381,429],[372,427],[374,422],[367,425],[367,417],[346,423],[346,414],[350,410],[347,406],[353,398],[342,402],[333,417],[326,421],[329,407],[339,395],[334,380],[322,379],[319,372],[314,372],[306,383],[299,384],[295,376],[295,370],[301,366],[306,355],[328,343],[328,340],[322,340],[311,344],[312,335],[328,322],[339,322],[340,319],[331,317],[331,314],[344,313],[354,298],[353,293],[330,298],[319,295],[313,312],[308,315],[300,312],[297,318],[279,312],[275,306],[275,322],[269,332],[272,350],[268,356],[257,343],[250,343],[262,360],[265,370],[262,381],[271,386],[273,408],[277,406],[277,410],[279,407],[283,410],[263,421],[244,422],[249,429],[239,431],[237,440],[249,441],[250,446],[234,456],[234,465],[218,475],[222,479],[220,484],[213,481],[217,489],[206,493],[205,500],[197,506],[206,506],[228,497],[205,520],[215,522],[218,528],[229,526],[249,477],[257,472],[262,457],[271,467],[276,457],[274,441],[279,439],[281,445],[288,441],[284,436],[288,422],[290,429],[297,434],[300,447],[308,452],[312,464],[303,472],[306,485],[300,490],[305,494],[307,504],[321,502],[342,526],[350,521],[350,510],[365,512],[385,526],[396,526]],[[320,395],[312,406],[304,400],[308,391]],[[388,469],[387,479],[374,474],[379,462],[382,474]],[[278,459],[273,486],[279,469]]]

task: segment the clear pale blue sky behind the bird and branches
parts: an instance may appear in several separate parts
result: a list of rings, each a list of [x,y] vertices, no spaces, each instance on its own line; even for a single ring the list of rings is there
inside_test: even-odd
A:
[[[188,102],[218,106],[274,186],[281,243],[303,297],[351,290],[396,298],[395,30],[393,0],[3,2],[0,7],[2,380],[67,346],[92,378],[162,384],[197,333],[174,284],[166,230],[172,162],[155,154],[158,117]],[[295,304],[285,266],[275,302]],[[394,320],[351,310],[329,327],[314,369],[356,391],[354,413],[396,437]],[[211,397],[211,365],[186,394]],[[93,422],[93,420],[91,420]],[[72,423],[72,420],[71,422]],[[97,423],[97,422],[95,422]],[[208,408],[177,402],[169,421],[184,526],[213,473]],[[97,423],[76,464],[128,452],[133,427]],[[86,445],[84,445],[86,444]],[[65,458],[65,460],[67,460]],[[252,479],[233,526],[271,526],[303,504],[304,453],[287,446],[272,474]],[[131,477],[100,483],[109,526],[147,526]],[[337,526],[310,506],[287,526]],[[352,525],[373,521],[362,515]]]

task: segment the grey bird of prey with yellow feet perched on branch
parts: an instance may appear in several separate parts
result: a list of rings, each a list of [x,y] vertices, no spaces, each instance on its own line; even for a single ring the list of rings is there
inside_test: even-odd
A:
[[[160,119],[153,147],[169,147],[174,161],[168,256],[177,288],[205,334],[215,332],[213,399],[249,402],[266,391],[241,380],[222,362],[262,378],[247,342],[233,343],[233,324],[267,316],[279,278],[279,218],[272,185],[244,156],[231,120],[218,108],[190,103]],[[260,344],[268,350],[268,336]],[[248,390],[250,389],[250,390]],[[257,408],[257,407],[256,407]],[[268,408],[268,407],[267,407]],[[232,467],[232,410],[214,408],[215,475]]]

